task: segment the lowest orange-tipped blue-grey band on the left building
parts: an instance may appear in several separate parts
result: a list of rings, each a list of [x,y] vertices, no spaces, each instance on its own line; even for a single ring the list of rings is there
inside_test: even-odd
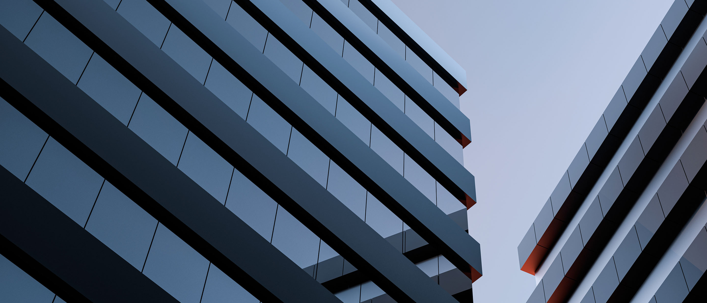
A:
[[[226,69],[240,76],[262,100],[274,105],[298,131],[321,147],[327,156],[403,222],[418,231],[423,239],[436,246],[457,268],[468,273],[475,272],[474,278],[478,278],[481,273],[481,248],[478,242],[303,88],[290,81],[279,67],[248,44],[238,31],[217,18],[211,8],[197,1],[150,1],[199,45],[203,45]],[[279,1],[274,1],[273,6],[277,4],[287,9]],[[295,25],[302,24],[298,19],[293,21]],[[404,115],[397,108],[395,110]],[[429,138],[424,132],[420,135]],[[431,140],[429,142],[436,144]],[[440,151],[445,153],[441,148]],[[449,158],[466,171],[451,156]]]

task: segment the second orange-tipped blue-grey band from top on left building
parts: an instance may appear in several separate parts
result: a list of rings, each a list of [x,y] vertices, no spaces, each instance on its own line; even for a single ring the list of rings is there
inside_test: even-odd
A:
[[[471,125],[462,111],[433,87],[416,69],[397,55],[390,45],[373,33],[340,0],[303,0],[317,15],[351,43],[411,101],[419,105],[446,132],[466,147],[472,138]]]

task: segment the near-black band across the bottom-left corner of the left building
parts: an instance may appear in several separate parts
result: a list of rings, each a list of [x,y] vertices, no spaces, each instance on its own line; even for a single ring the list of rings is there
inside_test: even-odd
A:
[[[0,195],[0,253],[66,302],[177,303],[2,166]]]

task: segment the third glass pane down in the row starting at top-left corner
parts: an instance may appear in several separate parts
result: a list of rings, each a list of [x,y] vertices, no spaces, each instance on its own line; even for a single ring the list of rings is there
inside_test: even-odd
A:
[[[118,118],[124,125],[140,98],[140,89],[105,62],[98,54],[93,54],[83,72],[78,88]]]

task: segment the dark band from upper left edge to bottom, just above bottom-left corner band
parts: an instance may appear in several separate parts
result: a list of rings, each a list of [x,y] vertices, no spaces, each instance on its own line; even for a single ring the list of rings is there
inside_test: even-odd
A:
[[[0,41],[1,97],[245,290],[264,302],[341,302],[1,27]]]

